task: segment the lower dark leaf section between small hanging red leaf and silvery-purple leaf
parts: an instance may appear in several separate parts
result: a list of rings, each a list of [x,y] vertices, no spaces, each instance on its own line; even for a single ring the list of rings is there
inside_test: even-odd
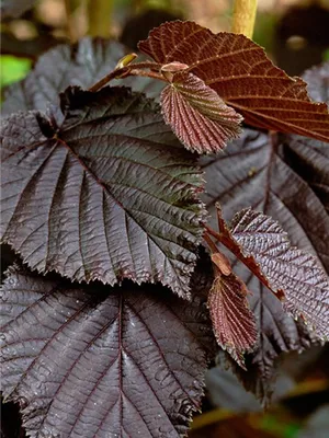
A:
[[[248,301],[256,316],[259,341],[253,351],[245,355],[247,371],[230,358],[228,362],[246,390],[253,392],[266,407],[275,388],[280,355],[288,351],[302,353],[311,346],[320,345],[320,342],[303,321],[283,312],[282,303],[247,267],[235,264],[232,268],[252,291]],[[217,358],[217,361],[218,359],[220,367],[227,368],[227,359],[223,361]]]

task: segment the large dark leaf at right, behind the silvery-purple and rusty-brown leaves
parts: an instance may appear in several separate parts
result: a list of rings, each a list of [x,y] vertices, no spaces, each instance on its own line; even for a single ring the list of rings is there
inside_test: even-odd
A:
[[[329,64],[305,74],[314,99],[328,101]],[[293,245],[314,254],[329,273],[329,147],[298,136],[276,136],[246,129],[224,153],[202,159],[206,172],[204,200],[216,227],[218,201],[226,219],[252,207],[271,216]],[[269,402],[274,361],[282,351],[303,350],[317,342],[313,332],[282,311],[282,303],[243,266],[234,270],[252,291],[258,322],[258,348],[247,358],[248,372],[238,370],[246,388]]]

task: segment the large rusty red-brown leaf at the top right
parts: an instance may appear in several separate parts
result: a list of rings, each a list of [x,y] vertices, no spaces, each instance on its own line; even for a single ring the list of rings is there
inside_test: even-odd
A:
[[[193,22],[170,22],[152,30],[139,49],[157,62],[183,62],[226,104],[259,128],[329,141],[326,104],[309,100],[306,83],[275,67],[243,35],[213,34]]]

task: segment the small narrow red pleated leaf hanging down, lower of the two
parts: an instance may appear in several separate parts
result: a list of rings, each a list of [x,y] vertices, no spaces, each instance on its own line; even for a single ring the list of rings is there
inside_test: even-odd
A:
[[[218,257],[215,262],[218,262]],[[214,334],[220,347],[246,369],[243,353],[252,350],[257,343],[256,320],[249,309],[248,290],[239,277],[229,273],[223,260],[219,262],[220,268],[218,263],[215,264],[215,279],[208,295]]]

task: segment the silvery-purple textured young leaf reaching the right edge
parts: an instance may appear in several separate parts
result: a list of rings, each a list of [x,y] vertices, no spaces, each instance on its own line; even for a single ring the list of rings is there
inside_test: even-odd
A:
[[[230,233],[242,255],[259,264],[271,289],[284,292],[284,308],[329,337],[329,280],[318,261],[292,246],[281,226],[259,211],[238,212]]]

